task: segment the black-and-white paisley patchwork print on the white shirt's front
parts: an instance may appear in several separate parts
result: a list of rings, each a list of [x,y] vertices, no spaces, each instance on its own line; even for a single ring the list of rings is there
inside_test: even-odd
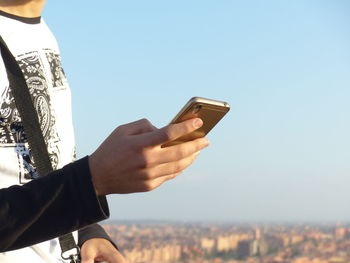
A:
[[[18,56],[17,61],[37,111],[52,166],[56,169],[60,161],[60,138],[56,131],[56,116],[50,102],[50,93],[52,88],[63,84],[64,73],[59,55],[52,51],[46,51],[45,55],[43,57],[39,56],[38,52],[31,52]],[[46,71],[45,62],[46,65],[50,65],[50,69]],[[49,85],[50,83],[52,84]],[[0,143],[16,145],[15,151],[20,166],[19,182],[26,183],[28,180],[36,178],[38,174],[30,149],[28,149],[21,117],[12,96],[12,88],[7,87],[0,97]]]

